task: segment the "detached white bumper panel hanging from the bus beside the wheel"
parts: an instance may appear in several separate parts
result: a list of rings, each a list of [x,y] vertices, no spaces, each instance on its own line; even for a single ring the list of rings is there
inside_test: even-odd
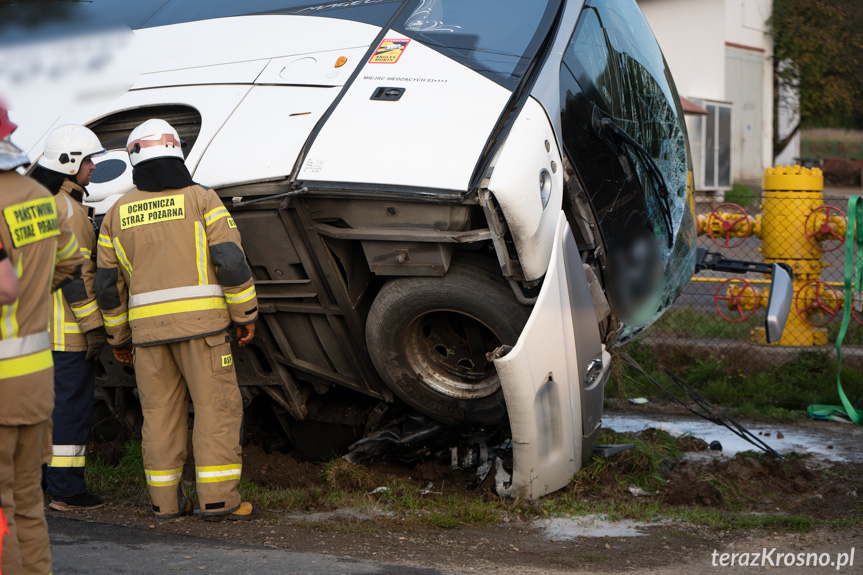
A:
[[[502,495],[535,499],[566,486],[590,457],[611,357],[587,276],[561,212],[551,262],[515,347],[495,360],[509,413],[513,474]]]

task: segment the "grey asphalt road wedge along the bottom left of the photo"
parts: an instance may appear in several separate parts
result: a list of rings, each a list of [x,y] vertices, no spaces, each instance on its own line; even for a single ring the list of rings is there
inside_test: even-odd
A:
[[[446,575],[423,569],[358,561],[273,547],[48,517],[54,575]]]

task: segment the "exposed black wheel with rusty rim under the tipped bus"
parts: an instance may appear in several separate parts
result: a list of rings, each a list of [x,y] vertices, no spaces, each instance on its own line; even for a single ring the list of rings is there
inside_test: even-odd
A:
[[[530,314],[494,262],[463,255],[443,277],[389,280],[366,323],[369,354],[408,405],[446,424],[506,421],[487,354],[515,345]]]

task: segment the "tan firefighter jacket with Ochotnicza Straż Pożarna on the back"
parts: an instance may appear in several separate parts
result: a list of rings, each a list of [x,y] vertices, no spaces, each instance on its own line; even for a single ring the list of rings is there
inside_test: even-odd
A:
[[[106,214],[98,244],[96,298],[113,347],[203,337],[257,319],[240,232],[212,190],[132,190]]]

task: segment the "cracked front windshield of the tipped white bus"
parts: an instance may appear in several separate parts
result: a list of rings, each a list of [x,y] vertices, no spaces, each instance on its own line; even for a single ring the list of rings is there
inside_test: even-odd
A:
[[[585,3],[564,55],[561,98],[564,145],[599,223],[625,339],[671,305],[695,258],[683,112],[633,0]]]

